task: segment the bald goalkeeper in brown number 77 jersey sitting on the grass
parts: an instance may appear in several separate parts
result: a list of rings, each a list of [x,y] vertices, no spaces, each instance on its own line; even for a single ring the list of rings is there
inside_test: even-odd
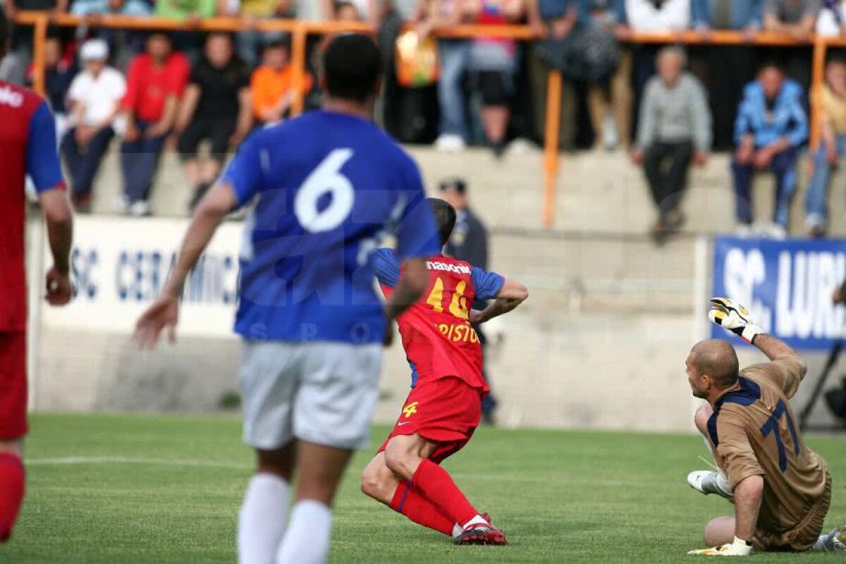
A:
[[[687,375],[695,397],[696,427],[711,445],[719,471],[689,474],[703,494],[734,503],[734,514],[711,519],[706,556],[746,556],[755,550],[846,550],[840,528],[821,534],[832,501],[826,461],[805,446],[789,399],[807,367],[786,344],[750,320],[744,306],[711,299],[711,321],[761,349],[771,362],[739,370],[727,341],[702,341],[690,351]]]

